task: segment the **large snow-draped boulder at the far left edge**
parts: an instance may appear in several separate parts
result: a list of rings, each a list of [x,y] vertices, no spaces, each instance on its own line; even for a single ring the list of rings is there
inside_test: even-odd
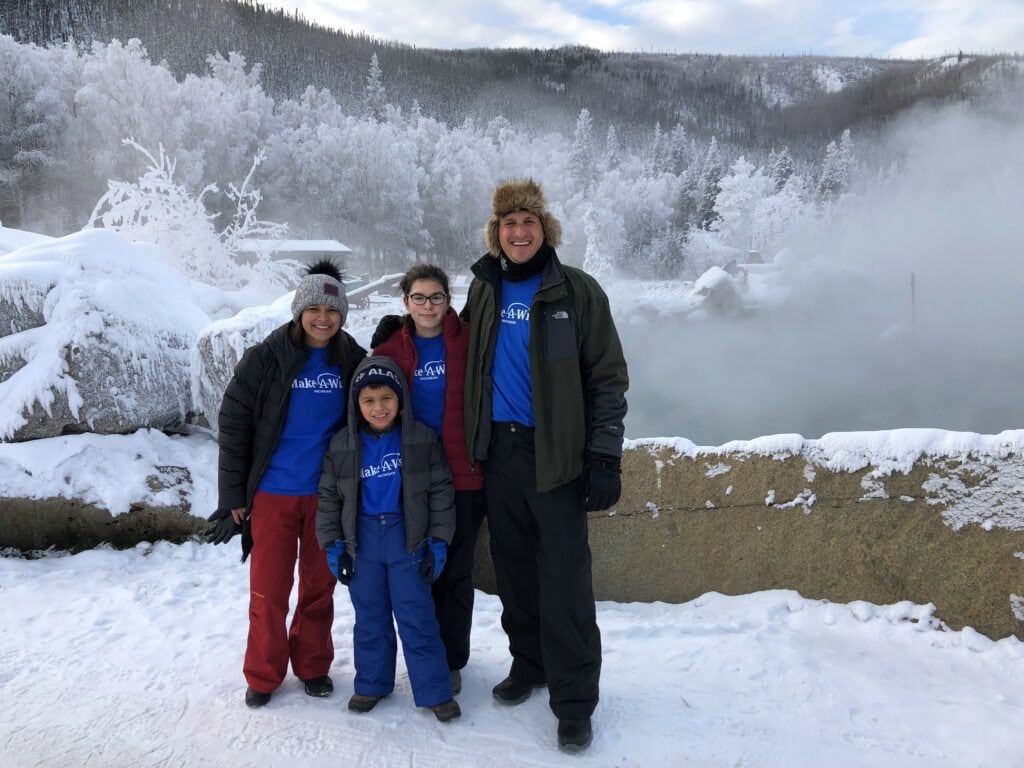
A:
[[[0,256],[0,440],[185,422],[208,323],[179,272],[109,229]]]

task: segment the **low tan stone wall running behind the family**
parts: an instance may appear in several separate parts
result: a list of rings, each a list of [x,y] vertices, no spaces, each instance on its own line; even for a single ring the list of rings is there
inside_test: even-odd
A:
[[[934,603],[952,629],[1024,639],[1024,459],[919,457],[840,467],[797,451],[631,444],[620,504],[590,516],[599,600],[683,602],[717,591]],[[0,499],[0,548],[131,546],[204,527],[188,510],[111,517],[67,500]],[[494,590],[486,529],[477,586]],[[230,547],[238,547],[233,540]]]

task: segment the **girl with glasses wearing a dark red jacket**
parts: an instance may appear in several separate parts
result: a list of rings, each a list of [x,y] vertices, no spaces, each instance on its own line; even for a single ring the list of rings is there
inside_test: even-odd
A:
[[[374,348],[391,357],[410,383],[417,421],[440,438],[455,482],[455,538],[444,571],[434,582],[434,610],[452,672],[452,690],[462,688],[461,670],[469,660],[473,623],[473,552],[483,519],[483,474],[469,460],[463,427],[463,385],[469,326],[452,308],[447,274],[440,267],[418,264],[401,279],[402,303],[409,314],[400,329]]]

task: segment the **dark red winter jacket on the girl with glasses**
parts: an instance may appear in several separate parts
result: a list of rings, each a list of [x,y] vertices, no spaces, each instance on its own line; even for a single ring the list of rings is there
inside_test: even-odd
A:
[[[441,447],[452,468],[456,490],[479,490],[483,487],[480,463],[469,461],[466,451],[465,412],[463,393],[466,386],[466,356],[469,352],[469,326],[459,319],[449,307],[444,314],[444,415],[441,417]],[[413,341],[413,322],[407,317],[401,330],[391,334],[383,344],[374,347],[374,354],[390,357],[398,364],[409,382],[416,386],[416,342]]]

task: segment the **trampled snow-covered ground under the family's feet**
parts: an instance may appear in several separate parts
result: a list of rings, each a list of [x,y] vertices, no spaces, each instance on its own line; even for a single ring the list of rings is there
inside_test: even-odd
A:
[[[247,570],[237,540],[0,558],[0,765],[1024,765],[1019,641],[945,631],[909,603],[786,591],[599,603],[601,703],[582,756],[555,749],[543,693],[492,699],[509,659],[499,602],[479,592],[460,720],[415,709],[401,662],[394,694],[347,712],[353,613],[340,587],[334,695],[289,678],[249,710]]]

